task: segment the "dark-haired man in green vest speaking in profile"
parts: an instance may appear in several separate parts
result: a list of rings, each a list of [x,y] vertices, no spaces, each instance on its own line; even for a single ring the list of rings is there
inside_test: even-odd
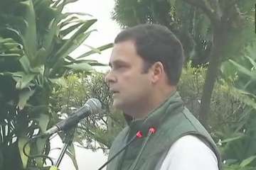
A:
[[[117,35],[105,79],[113,106],[132,120],[112,144],[108,170],[220,169],[215,143],[176,91],[183,60],[181,42],[164,26]]]

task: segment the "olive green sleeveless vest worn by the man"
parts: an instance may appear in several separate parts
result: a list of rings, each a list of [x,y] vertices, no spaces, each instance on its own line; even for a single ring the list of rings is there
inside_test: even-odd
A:
[[[161,163],[161,157],[168,152],[176,140],[184,135],[196,135],[206,143],[215,153],[220,169],[221,159],[215,143],[203,125],[183,106],[178,92],[174,92],[144,120],[134,120],[127,128],[124,128],[112,143],[109,159],[122,149],[138,130],[142,130],[146,136],[149,128],[152,127],[156,128],[154,134],[149,138],[134,140],[127,149],[108,164],[107,170],[130,170],[136,159],[138,159],[134,168],[136,170],[159,169],[156,166],[159,165],[159,162]],[[144,148],[142,149],[142,147]],[[139,153],[140,157],[137,158]]]

